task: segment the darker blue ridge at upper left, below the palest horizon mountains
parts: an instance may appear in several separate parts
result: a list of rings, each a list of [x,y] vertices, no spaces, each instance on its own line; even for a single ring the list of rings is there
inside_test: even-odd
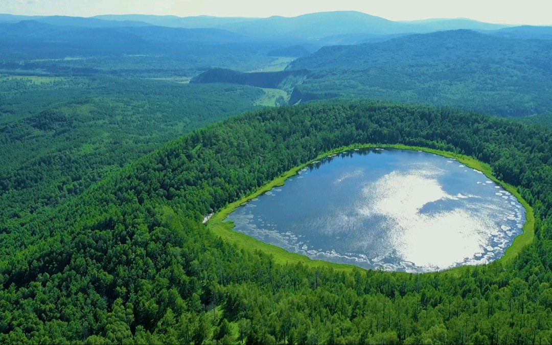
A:
[[[75,25],[61,25],[60,20]],[[86,25],[78,25],[82,22]],[[103,22],[110,23],[110,26],[94,26],[103,25]],[[136,22],[132,22],[132,26],[123,26],[113,23],[129,22],[46,17],[0,23],[0,44],[4,46],[4,53],[13,51],[39,55],[41,52],[50,52],[64,57],[75,54],[158,54],[187,49],[184,43],[205,45],[251,41],[246,36],[214,28],[167,28],[150,24],[135,25]]]

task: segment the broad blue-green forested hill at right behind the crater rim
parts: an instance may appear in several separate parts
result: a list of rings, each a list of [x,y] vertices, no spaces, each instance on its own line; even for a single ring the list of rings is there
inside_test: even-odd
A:
[[[290,64],[312,71],[290,102],[353,95],[498,116],[542,114],[552,110],[550,51],[549,40],[468,30],[323,47]]]

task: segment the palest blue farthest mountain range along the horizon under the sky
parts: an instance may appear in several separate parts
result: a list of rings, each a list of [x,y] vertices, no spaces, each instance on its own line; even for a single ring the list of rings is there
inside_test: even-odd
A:
[[[548,39],[550,27],[537,26],[516,29],[513,25],[491,24],[477,20],[426,19],[411,22],[394,22],[374,15],[355,11],[320,12],[299,15],[298,17],[240,18],[240,17],[176,17],[173,15],[98,15],[92,18],[82,17],[39,17],[0,14],[0,22],[15,23],[21,20],[35,20],[40,23],[79,26],[86,28],[114,28],[121,26],[167,26],[186,29],[222,29],[263,40],[308,40],[326,44],[358,44],[382,41],[398,35],[430,33],[441,30],[470,29],[477,31],[497,31],[508,29],[500,35],[512,35],[518,38]],[[523,34],[519,34],[522,30]]]

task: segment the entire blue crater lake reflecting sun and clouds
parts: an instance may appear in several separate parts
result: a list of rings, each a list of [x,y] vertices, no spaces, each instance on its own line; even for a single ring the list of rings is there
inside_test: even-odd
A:
[[[421,273],[500,258],[525,209],[456,160],[380,148],[314,162],[227,220],[313,259]]]

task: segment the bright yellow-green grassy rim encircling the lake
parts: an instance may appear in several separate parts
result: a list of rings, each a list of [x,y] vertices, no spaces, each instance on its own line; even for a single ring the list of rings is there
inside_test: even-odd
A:
[[[523,247],[529,245],[529,243],[533,241],[533,238],[535,235],[535,232],[534,232],[535,219],[534,219],[533,208],[529,205],[529,203],[527,203],[526,200],[524,200],[521,197],[521,194],[519,194],[518,190],[515,187],[505,182],[499,181],[497,178],[492,176],[492,169],[489,166],[489,164],[477,161],[475,158],[470,156],[460,155],[459,153],[434,150],[433,148],[427,148],[427,147],[407,146],[407,145],[401,145],[401,144],[383,144],[383,145],[382,144],[354,144],[354,145],[339,147],[339,148],[336,148],[335,150],[322,153],[322,155],[319,155],[314,160],[311,160],[309,162],[301,164],[298,167],[294,167],[290,169],[288,172],[282,174],[280,177],[263,185],[261,188],[257,189],[252,194],[247,195],[247,197],[244,197],[240,200],[237,200],[227,205],[224,209],[217,212],[215,215],[213,215],[213,217],[211,217],[211,219],[209,219],[209,221],[207,222],[208,229],[210,229],[211,231],[214,231],[214,233],[217,236],[221,236],[222,238],[224,238],[227,241],[230,241],[231,243],[236,243],[239,247],[245,248],[247,250],[253,250],[253,251],[259,250],[264,253],[270,254],[273,256],[274,261],[280,264],[296,264],[301,262],[306,264],[307,266],[316,267],[316,268],[333,268],[336,270],[344,270],[344,271],[362,269],[360,267],[353,266],[353,265],[338,264],[338,263],[326,262],[321,260],[313,260],[309,257],[302,256],[301,254],[290,253],[284,250],[283,248],[269,245],[268,243],[264,243],[262,241],[256,240],[253,237],[237,232],[233,230],[233,227],[234,227],[233,222],[225,221],[226,217],[229,214],[231,214],[238,206],[240,206],[243,203],[246,203],[251,199],[257,198],[259,195],[265,192],[268,192],[269,190],[275,187],[284,185],[286,179],[297,174],[302,168],[306,167],[308,164],[311,164],[314,161],[321,160],[322,158],[325,158],[331,155],[336,155],[337,153],[353,150],[355,148],[397,148],[402,150],[424,151],[428,153],[435,153],[436,155],[440,155],[447,158],[454,158],[460,163],[465,164],[465,166],[467,167],[481,171],[482,173],[485,174],[487,178],[500,184],[503,188],[508,190],[509,193],[512,193],[512,195],[514,195],[519,200],[519,202],[523,205],[523,207],[526,209],[526,222],[523,226],[523,233],[521,233],[521,235],[518,235],[516,238],[514,238],[512,245],[506,249],[504,256],[502,256],[500,259],[497,259],[490,265],[498,262],[501,262],[501,263],[511,262],[513,259],[515,259],[518,256],[518,254],[521,252]],[[472,266],[461,266],[461,267],[445,270],[442,272],[434,272],[434,273],[428,273],[428,274],[436,274],[436,273],[444,273],[444,272],[458,274],[460,272],[463,272],[463,270],[465,269],[469,269],[470,267]],[[396,272],[396,273],[407,274],[402,272]]]

